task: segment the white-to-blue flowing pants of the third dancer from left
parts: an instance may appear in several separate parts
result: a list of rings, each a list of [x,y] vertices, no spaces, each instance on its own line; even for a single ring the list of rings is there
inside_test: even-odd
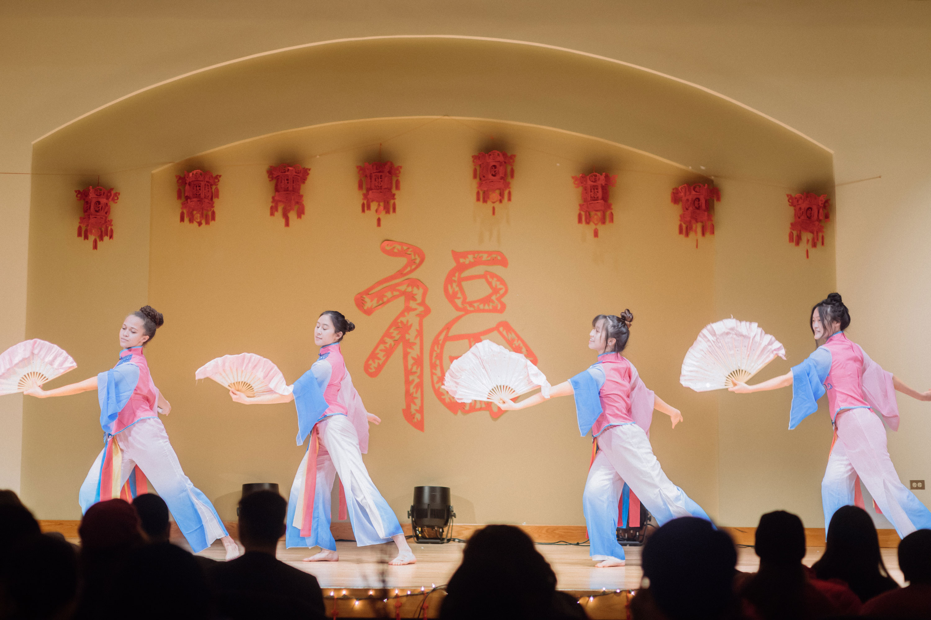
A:
[[[598,436],[598,454],[588,469],[582,505],[592,560],[623,560],[617,542],[617,503],[624,483],[662,525],[678,517],[708,515],[669,481],[646,432],[636,424],[610,427]]]

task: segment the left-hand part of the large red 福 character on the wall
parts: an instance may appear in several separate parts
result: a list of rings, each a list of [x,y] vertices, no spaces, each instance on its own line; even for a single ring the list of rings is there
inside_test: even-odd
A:
[[[424,317],[430,313],[430,307],[426,305],[426,285],[407,276],[424,262],[424,250],[397,241],[384,241],[381,249],[389,257],[404,258],[404,266],[359,293],[356,308],[371,316],[396,299],[403,299],[404,307],[366,358],[365,374],[378,376],[400,343],[404,361],[404,419],[414,429],[423,430]]]

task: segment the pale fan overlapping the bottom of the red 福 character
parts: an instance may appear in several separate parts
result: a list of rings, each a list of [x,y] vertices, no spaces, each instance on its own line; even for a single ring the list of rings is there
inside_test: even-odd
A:
[[[536,388],[549,396],[549,383],[540,369],[491,340],[480,341],[454,360],[443,377],[443,389],[458,402],[510,400]]]

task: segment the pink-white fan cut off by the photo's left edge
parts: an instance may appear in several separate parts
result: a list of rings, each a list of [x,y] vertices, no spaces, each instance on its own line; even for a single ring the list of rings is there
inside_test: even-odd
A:
[[[0,395],[37,388],[75,368],[71,356],[50,342],[20,342],[0,353]]]

